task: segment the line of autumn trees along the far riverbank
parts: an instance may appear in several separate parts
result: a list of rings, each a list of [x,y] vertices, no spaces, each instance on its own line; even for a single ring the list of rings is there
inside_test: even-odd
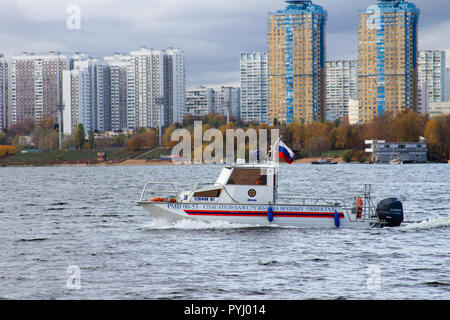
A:
[[[322,156],[330,151],[346,150],[345,160],[364,161],[365,140],[386,140],[389,142],[415,142],[424,137],[428,143],[429,159],[447,161],[450,159],[450,115],[430,117],[412,110],[393,115],[385,113],[370,123],[351,125],[348,119],[339,122],[293,122],[277,123],[269,126],[256,122],[225,116],[208,114],[203,117],[186,115],[182,123],[165,127],[161,137],[162,145],[173,148],[178,142],[171,141],[176,129],[184,128],[193,133],[194,121],[201,120],[203,132],[210,128],[219,129],[225,137],[227,129],[279,129],[283,141],[300,157]],[[59,147],[58,125],[48,119],[35,124],[25,121],[13,125],[0,133],[0,145],[14,145],[18,151],[24,147],[23,136],[30,136],[35,148],[42,151],[56,150]],[[159,146],[159,133],[156,128],[139,128],[133,134],[118,133],[112,137],[95,139],[94,132],[87,134],[83,125],[74,128],[71,136],[64,136],[62,149],[101,149],[121,147],[127,151],[152,149]],[[269,140],[270,141],[270,140]]]

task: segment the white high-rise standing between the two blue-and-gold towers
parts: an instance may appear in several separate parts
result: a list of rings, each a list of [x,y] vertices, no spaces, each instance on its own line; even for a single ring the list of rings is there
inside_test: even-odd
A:
[[[327,61],[326,120],[344,120],[350,99],[358,96],[358,61]]]

